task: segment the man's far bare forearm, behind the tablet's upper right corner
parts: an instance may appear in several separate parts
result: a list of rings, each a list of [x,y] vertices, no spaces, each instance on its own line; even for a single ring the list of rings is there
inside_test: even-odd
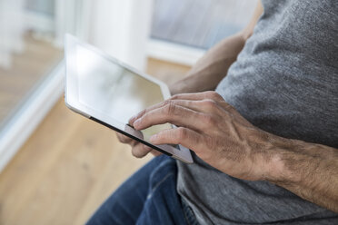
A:
[[[245,44],[243,33],[216,44],[193,66],[188,75],[170,86],[172,94],[214,90]]]

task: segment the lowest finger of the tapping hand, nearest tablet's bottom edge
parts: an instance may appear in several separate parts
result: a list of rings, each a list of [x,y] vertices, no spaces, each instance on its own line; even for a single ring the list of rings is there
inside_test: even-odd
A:
[[[202,140],[200,133],[184,127],[164,130],[150,138],[153,144],[182,144],[193,151],[203,149]]]

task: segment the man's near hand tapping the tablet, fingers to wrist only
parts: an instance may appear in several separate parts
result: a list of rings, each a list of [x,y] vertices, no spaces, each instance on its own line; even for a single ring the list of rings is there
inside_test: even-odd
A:
[[[263,180],[260,148],[266,132],[247,122],[215,92],[185,93],[133,117],[136,130],[170,122],[178,128],[151,137],[154,144],[182,144],[214,168],[236,178]]]

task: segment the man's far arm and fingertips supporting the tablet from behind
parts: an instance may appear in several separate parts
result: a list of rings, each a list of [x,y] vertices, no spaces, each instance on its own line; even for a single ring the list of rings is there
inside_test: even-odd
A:
[[[182,80],[174,83],[170,91],[175,93],[196,93],[207,90],[214,90],[217,84],[224,78],[228,68],[242,51],[246,40],[254,31],[260,15],[263,13],[263,6],[259,1],[254,11],[254,15],[249,24],[239,32],[225,38],[219,44],[212,47],[204,56],[194,64],[192,70]],[[143,157],[150,148],[144,144],[133,141],[122,134],[117,133],[120,142],[128,143],[132,146],[132,153],[136,157]],[[160,152],[152,151],[155,155]]]

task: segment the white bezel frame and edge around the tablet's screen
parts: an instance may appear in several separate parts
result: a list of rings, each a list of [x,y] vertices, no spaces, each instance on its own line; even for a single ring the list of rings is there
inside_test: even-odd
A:
[[[85,117],[92,119],[95,122],[99,122],[103,124],[106,127],[109,127],[113,129],[116,132],[121,132],[124,135],[133,138],[134,140],[138,142],[142,142],[147,146],[150,146],[154,148],[155,150],[159,152],[163,152],[164,154],[170,155],[175,159],[178,159],[180,161],[184,161],[187,163],[192,163],[193,158],[191,155],[191,152],[189,149],[185,148],[182,145],[179,145],[180,150],[174,148],[173,146],[164,144],[164,145],[154,145],[150,142],[146,142],[140,137],[139,131],[135,131],[132,127],[123,124],[121,122],[118,122],[114,120],[114,118],[111,118],[107,115],[105,115],[102,112],[95,111],[94,109],[84,105],[79,101],[78,96],[78,85],[77,85],[77,78],[76,78],[76,69],[75,69],[75,62],[76,62],[76,56],[75,56],[75,48],[77,45],[81,45],[85,49],[90,50],[91,52],[94,52],[95,54],[99,54],[107,61],[110,61],[114,64],[119,64],[120,66],[124,67],[124,69],[135,73],[137,75],[142,76],[144,79],[156,83],[160,86],[161,92],[164,95],[164,100],[168,99],[171,94],[169,91],[168,86],[155,79],[154,77],[147,75],[145,73],[140,73],[136,71],[131,66],[122,63],[121,61],[115,59],[113,56],[104,53],[103,51],[95,48],[94,46],[90,44],[85,44],[81,42],[78,38],[71,34],[65,34],[65,104],[68,108],[73,110],[74,112],[80,113],[84,115]],[[73,62],[75,61],[75,62]],[[141,134],[142,135],[142,134]]]

